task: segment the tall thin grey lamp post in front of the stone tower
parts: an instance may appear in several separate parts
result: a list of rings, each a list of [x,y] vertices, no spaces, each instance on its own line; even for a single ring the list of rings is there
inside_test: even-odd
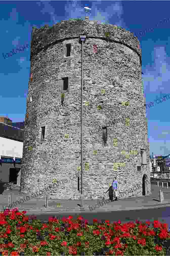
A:
[[[86,36],[80,36],[80,42],[82,43],[82,72],[81,72],[81,195],[80,195],[80,207],[83,207],[83,43],[86,40]]]

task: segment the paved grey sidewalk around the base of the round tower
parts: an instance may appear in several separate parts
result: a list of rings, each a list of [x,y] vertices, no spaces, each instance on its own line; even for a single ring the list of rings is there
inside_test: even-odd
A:
[[[159,190],[161,187],[157,187],[155,184],[151,184],[152,195],[140,196],[136,198],[118,199],[117,201],[110,202],[96,208],[93,212],[98,211],[118,211],[118,210],[133,210],[133,209],[146,209],[146,208],[160,208],[163,206],[170,206],[170,187],[168,189],[162,188],[164,194],[164,201],[159,202]],[[3,206],[8,205],[8,195],[12,195],[12,201],[17,201],[24,196],[19,195],[19,189],[5,190],[5,195],[0,195],[0,211],[3,210]],[[108,195],[105,194],[105,199],[108,199]],[[29,201],[25,201],[20,205],[16,205],[19,210],[26,210],[28,214],[36,214],[36,212],[81,212],[90,211],[89,206],[95,206],[97,202],[102,199],[96,200],[83,200],[83,208],[80,208],[80,200],[49,200],[48,208],[45,208],[45,199],[31,198]],[[57,207],[58,204],[58,207]],[[14,208],[16,208],[14,207]]]

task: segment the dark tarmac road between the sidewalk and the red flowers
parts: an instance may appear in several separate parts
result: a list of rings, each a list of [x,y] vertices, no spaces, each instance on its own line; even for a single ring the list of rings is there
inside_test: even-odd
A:
[[[82,211],[82,212],[54,212],[50,213],[42,213],[36,212],[31,213],[29,211],[26,215],[35,215],[37,219],[41,221],[48,221],[49,217],[55,216],[58,219],[62,217],[69,217],[69,215],[73,216],[73,219],[76,219],[78,216],[82,216],[84,219],[88,221],[89,224],[93,224],[93,219],[98,219],[101,221],[109,220],[110,223],[114,221],[121,221],[122,223],[126,223],[129,221],[146,221],[149,220],[153,222],[154,220],[159,220],[161,223],[167,223],[168,227],[170,227],[170,207],[160,207],[156,209],[141,209],[141,210],[123,210],[123,211]]]

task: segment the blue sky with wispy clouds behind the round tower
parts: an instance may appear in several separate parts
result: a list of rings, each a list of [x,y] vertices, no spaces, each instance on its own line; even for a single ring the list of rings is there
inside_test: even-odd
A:
[[[142,49],[146,103],[154,102],[154,106],[147,109],[150,154],[170,154],[170,99],[155,103],[170,93],[169,1],[1,1],[0,116],[8,116],[12,122],[25,120],[32,27],[53,26],[70,18],[85,19],[85,6],[91,8],[90,20],[115,24],[133,32],[134,36],[149,29],[138,40]],[[164,19],[168,21],[159,24]],[[26,44],[28,49],[4,59],[3,53]]]

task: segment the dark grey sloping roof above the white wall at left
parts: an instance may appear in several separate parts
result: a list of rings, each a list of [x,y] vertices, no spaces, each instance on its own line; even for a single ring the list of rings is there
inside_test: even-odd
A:
[[[22,127],[22,129],[18,127],[14,127],[9,124],[0,123],[0,137],[23,142],[23,139],[24,139],[23,122],[12,123],[12,124],[16,126],[20,126]]]

